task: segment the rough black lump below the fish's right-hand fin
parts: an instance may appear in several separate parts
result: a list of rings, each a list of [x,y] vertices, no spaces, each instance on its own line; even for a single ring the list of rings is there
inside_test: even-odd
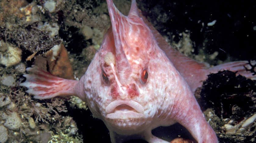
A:
[[[252,91],[256,91],[255,81],[241,75],[236,76],[236,73],[232,71],[219,71],[208,75],[208,79],[203,82],[199,104],[204,108],[215,108],[216,115],[227,118],[233,115],[234,105],[245,112],[250,110],[249,106],[254,105],[253,97],[250,95]],[[241,101],[247,104],[244,105]]]

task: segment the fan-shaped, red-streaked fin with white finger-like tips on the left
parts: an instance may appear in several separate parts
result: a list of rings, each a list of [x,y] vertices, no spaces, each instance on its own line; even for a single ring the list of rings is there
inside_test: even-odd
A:
[[[27,68],[27,71],[30,71],[30,74],[23,75],[26,81],[20,86],[27,87],[26,92],[33,94],[37,99],[73,95],[75,93],[73,89],[79,82],[57,77],[34,65],[32,68]]]

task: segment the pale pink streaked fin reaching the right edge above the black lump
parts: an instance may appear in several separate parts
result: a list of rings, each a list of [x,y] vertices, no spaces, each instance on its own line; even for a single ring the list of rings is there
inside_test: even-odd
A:
[[[256,80],[256,61],[228,62],[209,68],[211,73],[216,73],[220,70],[233,71],[236,72],[236,75],[242,75],[251,80]]]

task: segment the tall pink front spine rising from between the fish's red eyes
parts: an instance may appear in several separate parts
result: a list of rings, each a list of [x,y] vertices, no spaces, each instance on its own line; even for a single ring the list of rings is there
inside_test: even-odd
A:
[[[124,85],[132,72],[131,65],[123,49],[127,47],[126,40],[123,37],[123,32],[125,32],[124,26],[128,26],[126,25],[128,19],[116,8],[112,0],[107,0],[107,4],[116,47],[117,77],[119,82]]]

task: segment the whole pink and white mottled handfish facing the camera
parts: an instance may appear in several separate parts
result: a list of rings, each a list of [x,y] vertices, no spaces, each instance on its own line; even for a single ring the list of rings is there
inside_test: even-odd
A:
[[[107,5],[112,27],[79,81],[59,78],[33,66],[27,68],[30,74],[24,75],[27,80],[20,85],[38,99],[81,98],[94,117],[104,121],[113,143],[137,138],[167,143],[151,130],[176,122],[197,142],[217,143],[193,91],[209,73],[221,69],[255,78],[245,70],[247,62],[209,68],[172,49],[141,15],[135,0],[128,16],[119,12],[112,0],[107,0]]]

